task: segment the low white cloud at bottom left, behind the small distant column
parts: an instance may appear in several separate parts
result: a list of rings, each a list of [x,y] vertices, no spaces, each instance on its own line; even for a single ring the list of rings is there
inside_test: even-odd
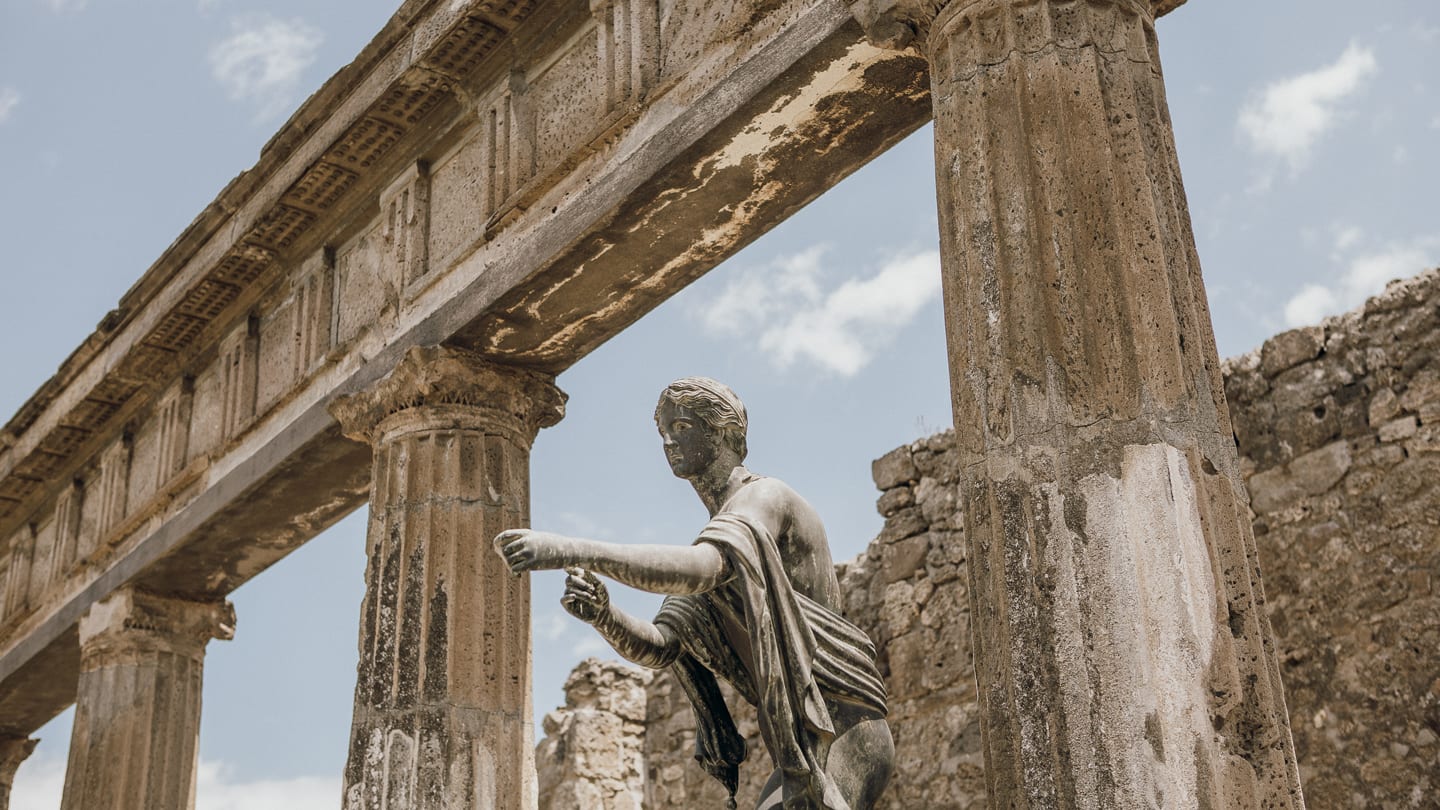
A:
[[[336,810],[340,803],[338,777],[238,781],[232,768],[207,760],[196,777],[196,810]],[[53,810],[63,791],[65,760],[33,757],[16,774],[10,807]]]

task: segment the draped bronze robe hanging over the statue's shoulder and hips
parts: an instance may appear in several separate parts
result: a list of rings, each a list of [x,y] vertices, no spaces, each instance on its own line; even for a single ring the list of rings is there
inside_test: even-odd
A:
[[[724,783],[734,807],[746,751],[716,685],[719,675],[756,706],[760,736],[783,778],[785,806],[850,810],[819,752],[835,736],[832,703],[854,706],[860,719],[886,716],[874,644],[795,589],[763,525],[720,512],[696,542],[720,551],[729,579],[706,594],[668,597],[655,617],[681,644],[671,672],[696,711],[696,760]],[[744,644],[747,656],[733,644]]]

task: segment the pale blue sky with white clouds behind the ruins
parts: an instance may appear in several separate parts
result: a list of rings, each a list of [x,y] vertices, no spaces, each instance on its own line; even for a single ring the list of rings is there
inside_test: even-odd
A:
[[[0,0],[0,412],[49,378],[396,0]],[[1159,23],[1223,356],[1440,265],[1440,6],[1191,0]],[[950,422],[926,127],[560,376],[536,441],[537,528],[688,543],[704,522],[651,422],[674,378],[729,382],[750,460],[825,519],[878,532],[870,461]],[[336,809],[364,510],[232,595],[210,644],[200,810]],[[608,654],[534,579],[536,715]],[[622,607],[657,604],[612,589]],[[59,807],[72,712],[37,732],[12,807]]]

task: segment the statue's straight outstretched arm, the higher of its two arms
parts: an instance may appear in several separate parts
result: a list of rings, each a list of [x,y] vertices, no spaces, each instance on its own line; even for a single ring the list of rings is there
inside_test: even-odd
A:
[[[704,594],[729,575],[724,556],[710,543],[678,548],[605,543],[511,529],[495,536],[495,551],[516,574],[579,565],[651,594]]]

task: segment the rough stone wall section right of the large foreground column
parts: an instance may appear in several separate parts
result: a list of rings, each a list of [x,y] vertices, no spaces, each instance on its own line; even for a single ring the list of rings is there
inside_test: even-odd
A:
[[[1225,365],[1310,807],[1440,807],[1440,271]]]

